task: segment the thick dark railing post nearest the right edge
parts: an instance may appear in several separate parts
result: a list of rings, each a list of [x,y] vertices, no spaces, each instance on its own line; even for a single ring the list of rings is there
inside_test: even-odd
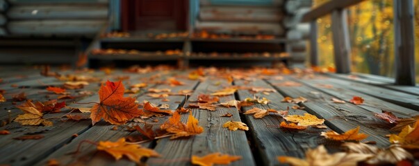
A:
[[[413,1],[394,0],[395,84],[415,86]]]

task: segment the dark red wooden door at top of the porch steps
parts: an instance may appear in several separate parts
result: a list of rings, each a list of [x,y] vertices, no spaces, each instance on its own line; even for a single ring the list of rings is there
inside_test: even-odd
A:
[[[186,0],[122,0],[122,30],[186,30]]]

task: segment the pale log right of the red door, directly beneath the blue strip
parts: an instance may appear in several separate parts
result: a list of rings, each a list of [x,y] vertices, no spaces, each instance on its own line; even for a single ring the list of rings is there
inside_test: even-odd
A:
[[[201,21],[278,22],[283,16],[279,8],[270,7],[203,6],[199,9]]]

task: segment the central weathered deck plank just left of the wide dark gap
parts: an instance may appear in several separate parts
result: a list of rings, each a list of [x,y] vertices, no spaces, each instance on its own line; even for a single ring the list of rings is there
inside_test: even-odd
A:
[[[220,83],[220,85],[215,85]],[[188,99],[188,103],[197,100],[199,94],[212,93],[222,86],[229,86],[226,81],[212,78],[198,85],[195,92]],[[220,98],[220,102],[234,100],[232,95]],[[233,114],[232,118],[220,117],[225,113]],[[222,124],[229,120],[240,121],[236,108],[217,107],[216,111],[206,111],[193,109],[193,116],[199,120],[199,125],[204,127],[204,133],[188,139],[169,140],[163,138],[157,142],[155,150],[165,156],[166,160],[176,158],[190,158],[192,155],[204,156],[206,154],[220,152],[222,154],[242,156],[241,160],[231,163],[231,165],[255,165],[252,152],[247,145],[245,131],[229,131],[223,128]],[[188,115],[182,116],[182,121],[186,121]],[[162,162],[158,158],[149,158],[148,165],[190,165],[190,160],[176,160],[176,162]]]

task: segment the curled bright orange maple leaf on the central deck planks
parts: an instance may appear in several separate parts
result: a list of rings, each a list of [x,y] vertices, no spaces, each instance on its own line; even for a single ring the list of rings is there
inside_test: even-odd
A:
[[[189,113],[186,124],[181,122],[181,115],[178,112],[174,112],[173,116],[161,124],[160,128],[174,133],[170,139],[193,136],[204,132],[204,128],[198,125],[198,120],[192,116],[192,112]]]

